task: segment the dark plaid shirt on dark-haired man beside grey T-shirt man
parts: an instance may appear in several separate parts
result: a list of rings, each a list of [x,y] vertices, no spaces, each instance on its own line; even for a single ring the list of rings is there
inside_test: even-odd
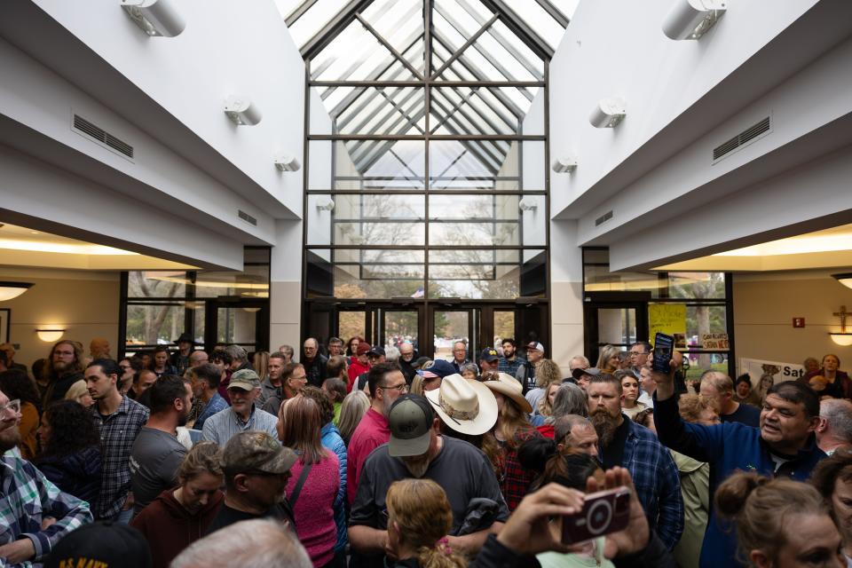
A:
[[[120,513],[127,500],[130,492],[130,449],[139,430],[148,421],[150,412],[128,397],[122,397],[122,404],[108,416],[98,412],[98,405],[90,408],[91,419],[100,436],[104,461],[94,513],[95,518],[108,519]]]

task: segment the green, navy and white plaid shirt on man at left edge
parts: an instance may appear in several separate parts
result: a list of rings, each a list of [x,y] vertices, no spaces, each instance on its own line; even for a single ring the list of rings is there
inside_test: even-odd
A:
[[[67,533],[91,523],[89,505],[59,491],[29,461],[0,457],[0,484],[0,545],[24,537],[32,540],[36,548],[32,562],[40,562]],[[44,517],[56,518],[56,524],[42,530]],[[15,565],[32,566],[32,562]]]

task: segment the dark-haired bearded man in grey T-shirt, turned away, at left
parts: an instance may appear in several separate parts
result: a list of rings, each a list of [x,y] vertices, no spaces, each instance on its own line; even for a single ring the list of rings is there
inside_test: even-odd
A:
[[[186,448],[177,441],[177,427],[185,426],[193,406],[191,383],[163,375],[150,389],[151,416],[130,450],[130,482],[138,513],[157,495],[177,487],[177,468]]]

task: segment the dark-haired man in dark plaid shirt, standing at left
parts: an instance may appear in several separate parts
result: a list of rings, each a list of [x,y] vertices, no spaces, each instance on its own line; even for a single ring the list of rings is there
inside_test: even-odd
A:
[[[86,367],[86,386],[95,401],[91,419],[100,438],[100,492],[93,508],[99,520],[130,522],[130,448],[139,430],[148,420],[148,409],[135,400],[122,396],[118,377],[122,375],[113,359],[95,359]]]

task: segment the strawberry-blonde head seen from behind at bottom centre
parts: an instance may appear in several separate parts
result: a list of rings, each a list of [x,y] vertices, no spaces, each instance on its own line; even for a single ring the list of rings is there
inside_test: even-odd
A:
[[[395,566],[465,568],[446,534],[453,528],[453,509],[441,486],[431,479],[403,479],[388,488],[388,548]]]

